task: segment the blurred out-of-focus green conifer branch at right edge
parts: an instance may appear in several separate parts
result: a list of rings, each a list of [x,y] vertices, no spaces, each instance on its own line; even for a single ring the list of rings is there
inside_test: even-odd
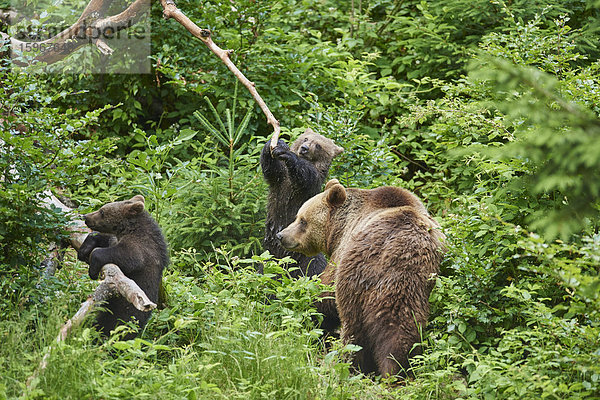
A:
[[[560,96],[556,81],[537,70],[515,69],[494,61],[487,77],[511,96],[501,104],[516,140],[500,148],[503,158],[520,159],[529,174],[514,182],[533,196],[554,198],[551,207],[537,209],[527,219],[547,238],[581,231],[598,212],[600,124],[591,110]],[[479,76],[482,76],[481,74]]]

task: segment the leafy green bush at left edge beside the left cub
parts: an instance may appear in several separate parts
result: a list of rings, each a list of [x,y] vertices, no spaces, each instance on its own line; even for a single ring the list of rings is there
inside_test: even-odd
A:
[[[51,188],[77,186],[111,147],[90,134],[99,108],[83,113],[54,106],[77,94],[54,91],[43,77],[0,64],[0,301],[2,312],[39,301],[39,263],[60,241],[66,218],[44,207]],[[10,82],[6,85],[4,82]],[[92,140],[82,140],[91,136]]]

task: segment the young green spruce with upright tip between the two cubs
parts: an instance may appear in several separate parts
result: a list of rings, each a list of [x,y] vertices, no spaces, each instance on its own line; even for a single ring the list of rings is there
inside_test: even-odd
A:
[[[262,146],[250,141],[247,132],[252,108],[236,125],[236,100],[224,110],[224,120],[220,107],[207,100],[216,126],[201,113],[194,114],[208,135],[193,144],[197,156],[174,180],[176,190],[165,210],[173,248],[194,247],[207,254],[221,246],[241,254],[260,249],[266,202],[258,171]]]

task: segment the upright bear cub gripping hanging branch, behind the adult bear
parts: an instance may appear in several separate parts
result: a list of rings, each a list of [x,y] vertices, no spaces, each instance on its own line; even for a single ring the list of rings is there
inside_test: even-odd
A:
[[[344,149],[310,128],[292,143],[291,148],[281,139],[273,151],[270,144],[271,141],[267,141],[260,156],[263,176],[269,184],[264,247],[276,258],[289,256],[296,261],[296,264],[288,265],[288,268],[299,268],[290,273],[293,278],[318,275],[327,264],[323,254],[307,257],[286,251],[276,235],[294,221],[296,212],[306,200],[321,191],[331,161]]]

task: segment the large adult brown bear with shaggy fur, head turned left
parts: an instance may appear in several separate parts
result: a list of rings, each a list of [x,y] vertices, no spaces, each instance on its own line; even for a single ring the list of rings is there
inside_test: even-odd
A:
[[[278,238],[289,250],[330,256],[324,275],[334,276],[342,338],[362,347],[355,366],[384,376],[408,370],[443,249],[421,201],[398,187],[345,189],[334,179]]]

